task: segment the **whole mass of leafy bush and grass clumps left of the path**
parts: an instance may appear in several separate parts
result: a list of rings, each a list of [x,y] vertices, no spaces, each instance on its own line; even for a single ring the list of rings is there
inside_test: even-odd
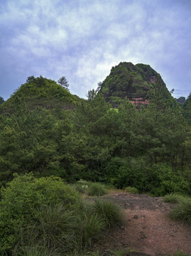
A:
[[[119,206],[85,203],[54,176],[17,174],[1,196],[1,255],[80,255],[106,228],[124,221]]]

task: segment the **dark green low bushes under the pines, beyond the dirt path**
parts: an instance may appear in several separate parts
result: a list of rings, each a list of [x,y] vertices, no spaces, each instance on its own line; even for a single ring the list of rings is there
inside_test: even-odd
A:
[[[120,166],[116,176],[111,178],[116,188],[131,186],[141,193],[151,192],[153,196],[165,196],[168,193],[187,194],[190,191],[189,182],[182,176],[176,176],[166,164],[153,164],[148,168],[143,159],[131,159],[130,166]]]

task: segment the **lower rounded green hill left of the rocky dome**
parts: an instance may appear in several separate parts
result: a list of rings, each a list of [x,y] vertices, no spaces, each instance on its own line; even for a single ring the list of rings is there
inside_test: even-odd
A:
[[[58,85],[57,82],[43,78],[29,77],[26,83],[21,85],[13,95],[1,104],[0,114],[9,111],[13,112],[18,105],[25,105],[27,109],[44,107],[53,109],[61,107],[63,109],[73,109],[75,103],[80,98],[72,95],[67,89]]]

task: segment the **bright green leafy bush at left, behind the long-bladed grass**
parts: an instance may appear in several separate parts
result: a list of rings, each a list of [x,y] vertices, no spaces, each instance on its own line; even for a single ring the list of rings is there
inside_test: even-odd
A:
[[[62,203],[65,209],[79,207],[80,196],[61,178],[35,178],[33,174],[18,176],[1,188],[0,252],[16,245],[18,230],[39,222],[39,208]],[[39,224],[39,223],[38,223]]]

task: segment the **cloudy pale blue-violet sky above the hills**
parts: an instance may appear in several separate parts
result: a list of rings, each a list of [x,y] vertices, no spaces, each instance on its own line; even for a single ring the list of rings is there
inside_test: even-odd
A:
[[[86,98],[113,66],[144,63],[191,92],[190,0],[0,0],[0,97],[34,75]]]

